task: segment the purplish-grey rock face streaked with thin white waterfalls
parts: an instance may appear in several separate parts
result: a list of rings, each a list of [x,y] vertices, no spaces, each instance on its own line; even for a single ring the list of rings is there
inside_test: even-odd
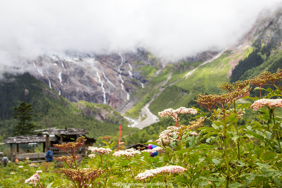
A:
[[[213,54],[206,52],[186,61],[210,59]],[[46,53],[28,64],[33,76],[70,102],[108,104],[120,111],[136,102],[132,94],[160,74],[167,62],[138,49],[136,53],[110,55]]]

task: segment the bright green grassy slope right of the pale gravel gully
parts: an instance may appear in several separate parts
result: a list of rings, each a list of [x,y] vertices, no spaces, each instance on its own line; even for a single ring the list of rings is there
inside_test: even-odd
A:
[[[211,63],[202,65],[187,78],[185,74],[189,71],[185,74],[179,73],[182,77],[172,85],[165,87],[165,90],[150,104],[150,110],[157,114],[167,108],[175,109],[184,106],[198,94],[220,93],[217,86],[228,81],[229,60],[228,54],[222,55]],[[175,77],[171,77],[171,79],[175,79]]]

